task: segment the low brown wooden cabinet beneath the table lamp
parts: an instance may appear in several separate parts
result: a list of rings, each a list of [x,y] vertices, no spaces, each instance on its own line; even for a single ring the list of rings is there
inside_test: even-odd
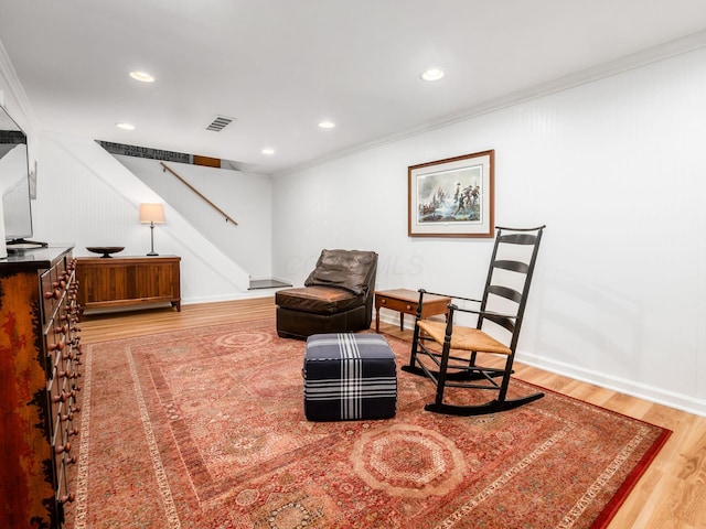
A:
[[[83,310],[169,302],[181,311],[180,257],[79,257]]]

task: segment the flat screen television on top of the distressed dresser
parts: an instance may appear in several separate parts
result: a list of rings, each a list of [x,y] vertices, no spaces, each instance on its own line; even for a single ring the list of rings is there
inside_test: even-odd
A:
[[[33,236],[26,136],[0,106],[0,191],[8,251],[42,244]]]

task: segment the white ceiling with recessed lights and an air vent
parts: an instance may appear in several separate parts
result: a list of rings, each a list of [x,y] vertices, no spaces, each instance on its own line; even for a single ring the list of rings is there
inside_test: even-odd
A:
[[[703,0],[0,0],[0,42],[40,130],[265,174],[704,29]],[[432,66],[446,77],[422,82]],[[216,116],[235,121],[206,130]]]

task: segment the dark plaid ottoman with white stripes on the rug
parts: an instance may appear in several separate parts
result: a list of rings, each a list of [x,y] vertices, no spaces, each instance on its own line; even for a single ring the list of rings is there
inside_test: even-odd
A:
[[[379,334],[314,334],[304,353],[304,414],[310,421],[395,415],[395,355]]]

